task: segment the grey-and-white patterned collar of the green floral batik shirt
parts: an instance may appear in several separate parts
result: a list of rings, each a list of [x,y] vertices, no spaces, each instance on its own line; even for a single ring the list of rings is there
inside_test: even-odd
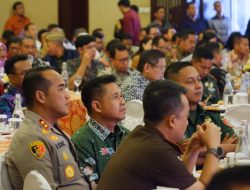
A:
[[[96,120],[94,120],[93,118],[90,118],[90,120],[88,121],[88,126],[90,127],[90,129],[102,140],[104,141],[109,134],[111,133],[110,130],[108,130],[106,127],[103,127],[100,123],[98,123]],[[118,125],[116,125],[115,127],[115,131],[118,129],[118,133],[122,132],[120,127]]]

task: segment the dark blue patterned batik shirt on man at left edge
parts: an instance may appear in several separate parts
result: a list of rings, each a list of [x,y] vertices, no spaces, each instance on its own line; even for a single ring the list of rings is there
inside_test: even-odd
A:
[[[21,94],[22,96],[21,91],[14,88],[13,86],[10,86],[8,91],[0,97],[0,114],[6,114],[8,118],[11,118],[15,108],[14,100],[16,94]],[[23,96],[22,96],[22,106],[23,107],[26,106]]]

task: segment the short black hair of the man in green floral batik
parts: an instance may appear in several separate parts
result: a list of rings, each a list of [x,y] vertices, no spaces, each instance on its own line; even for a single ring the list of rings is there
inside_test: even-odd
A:
[[[97,78],[94,78],[84,84],[82,87],[82,102],[88,110],[88,114],[93,113],[92,110],[92,101],[97,100],[98,98],[105,95],[106,91],[104,85],[109,83],[115,83],[116,78],[113,75],[103,75]]]

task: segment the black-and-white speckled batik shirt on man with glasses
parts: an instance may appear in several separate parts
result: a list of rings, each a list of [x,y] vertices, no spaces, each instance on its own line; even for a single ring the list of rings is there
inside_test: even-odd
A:
[[[130,100],[141,100],[149,80],[139,71],[133,72],[121,85],[123,97],[126,102]]]

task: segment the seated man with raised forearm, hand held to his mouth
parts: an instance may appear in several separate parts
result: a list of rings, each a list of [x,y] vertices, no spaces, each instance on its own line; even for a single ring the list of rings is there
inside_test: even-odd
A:
[[[90,35],[78,36],[75,42],[79,57],[67,61],[67,70],[70,76],[69,88],[74,89],[74,80],[81,77],[84,82],[97,77],[98,71],[104,65],[95,60],[96,42]]]

